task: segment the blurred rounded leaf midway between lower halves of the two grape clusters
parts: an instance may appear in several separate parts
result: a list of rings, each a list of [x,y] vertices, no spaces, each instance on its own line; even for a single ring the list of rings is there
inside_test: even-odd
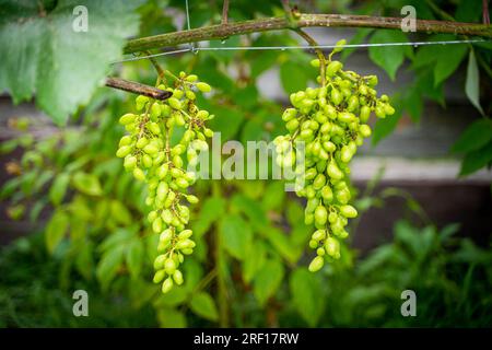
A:
[[[238,214],[226,215],[222,219],[220,233],[227,253],[242,260],[253,238],[253,230],[248,223]]]

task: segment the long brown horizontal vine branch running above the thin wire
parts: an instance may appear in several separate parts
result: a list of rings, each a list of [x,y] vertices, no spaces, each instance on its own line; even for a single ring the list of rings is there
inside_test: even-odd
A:
[[[370,27],[401,30],[401,18],[380,18],[348,14],[306,14],[296,19],[296,27]],[[200,40],[221,39],[234,35],[279,31],[291,28],[292,24],[285,16],[250,20],[235,23],[210,25],[189,31],[179,31],[154,36],[131,39],[127,43],[125,54],[139,52],[164,46],[197,43]],[[417,32],[452,33],[456,35],[477,35],[492,37],[492,26],[477,23],[460,23],[452,21],[415,20]]]

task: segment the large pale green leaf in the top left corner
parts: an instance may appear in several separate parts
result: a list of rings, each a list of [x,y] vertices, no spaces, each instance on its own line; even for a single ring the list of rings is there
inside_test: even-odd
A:
[[[3,1],[0,91],[8,90],[15,103],[35,94],[37,106],[63,124],[89,102],[109,62],[120,57],[126,37],[137,33],[134,10],[141,2],[63,0],[39,9],[31,1]],[[73,14],[78,5],[87,9],[86,32],[73,30],[81,20]]]

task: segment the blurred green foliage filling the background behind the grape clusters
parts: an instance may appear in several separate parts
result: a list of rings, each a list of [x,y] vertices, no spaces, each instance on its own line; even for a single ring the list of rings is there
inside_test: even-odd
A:
[[[460,21],[477,21],[476,2],[442,2],[442,8]],[[415,5],[419,18],[440,18],[427,2],[405,4]],[[220,2],[190,5],[194,27],[220,20]],[[351,1],[318,1],[301,10],[353,12],[349,5]],[[399,15],[401,5],[372,1],[355,11]],[[239,21],[278,15],[280,9],[278,1],[237,0],[230,16]],[[139,12],[141,36],[175,31],[173,13],[183,14],[183,1],[148,1]],[[409,38],[399,32],[361,30],[352,43],[364,39]],[[210,45],[295,43],[288,33],[265,33]],[[377,122],[373,142],[389,135],[403,113],[418,122],[425,98],[444,105],[444,84],[467,57],[466,93],[477,106],[476,72],[480,69],[490,78],[483,67],[491,62],[487,45],[370,49],[368,58],[389,77],[398,77],[405,60],[414,73],[409,85],[395,92],[398,113]],[[209,82],[215,93],[200,97],[199,104],[216,115],[211,128],[222,132],[222,141],[246,142],[269,141],[283,132],[282,106],[258,91],[261,73],[280,66],[286,95],[313,82],[311,58],[305,51],[201,51],[160,62]],[[148,84],[155,80],[145,60],[113,69],[126,79]],[[197,249],[184,264],[184,285],[163,296],[150,282],[157,235],[147,225],[144,187],[114,155],[122,135],[117,119],[131,110],[129,100],[125,93],[97,90],[66,127],[37,138],[25,132],[2,143],[3,153],[17,148],[24,153],[19,176],[2,186],[0,198],[9,200],[12,219],[30,220],[43,234],[22,238],[0,254],[0,326],[490,326],[489,250],[454,238],[454,226],[440,231],[399,222],[394,243],[362,260],[343,247],[341,261],[311,275],[304,247],[312,230],[303,223],[302,202],[285,194],[281,182],[199,182],[194,190],[202,201],[191,213]],[[487,114],[490,106],[482,109]],[[480,126],[471,125],[454,148],[465,154],[464,174],[492,160],[492,140],[483,132],[488,121],[476,122]],[[361,211],[373,200],[362,198]],[[419,211],[414,202],[408,203]],[[45,220],[46,225],[40,224]],[[72,316],[74,289],[91,295],[89,318]],[[400,315],[400,293],[406,289],[417,292],[419,317]]]

